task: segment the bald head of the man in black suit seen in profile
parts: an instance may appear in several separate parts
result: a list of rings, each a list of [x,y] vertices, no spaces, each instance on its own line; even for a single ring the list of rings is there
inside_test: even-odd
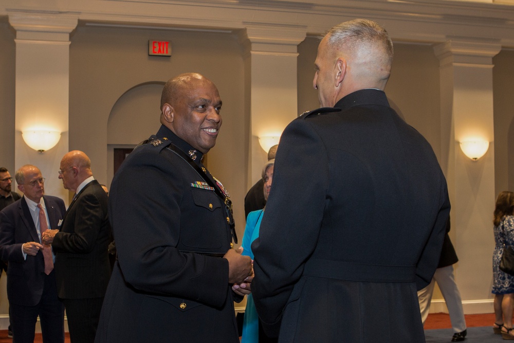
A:
[[[73,150],[63,156],[59,178],[63,180],[65,189],[75,192],[89,176],[93,176],[91,160],[84,152]]]

